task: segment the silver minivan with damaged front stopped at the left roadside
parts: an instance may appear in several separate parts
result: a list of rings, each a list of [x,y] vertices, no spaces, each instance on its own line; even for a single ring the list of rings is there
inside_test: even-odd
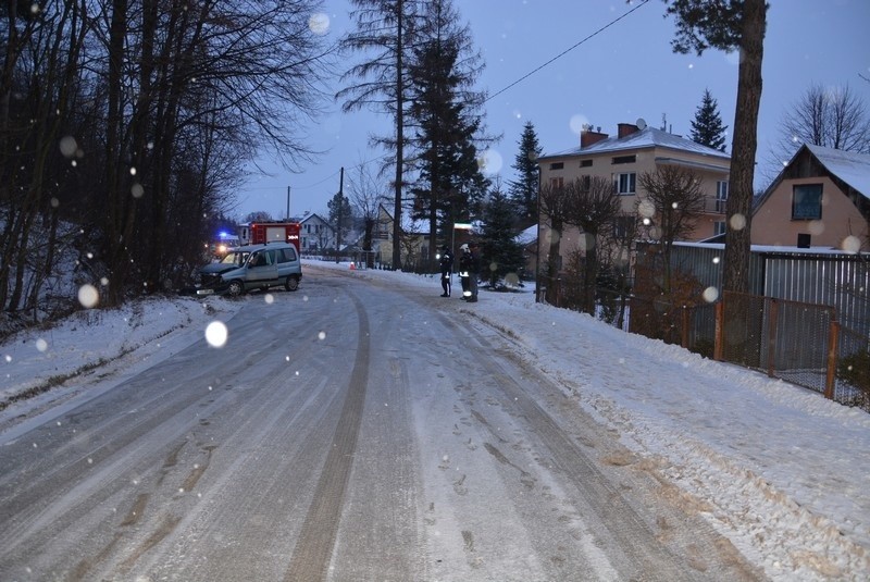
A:
[[[202,267],[196,294],[237,297],[251,289],[265,290],[276,285],[296,290],[301,278],[302,264],[295,246],[289,243],[246,245],[229,249],[220,261]]]

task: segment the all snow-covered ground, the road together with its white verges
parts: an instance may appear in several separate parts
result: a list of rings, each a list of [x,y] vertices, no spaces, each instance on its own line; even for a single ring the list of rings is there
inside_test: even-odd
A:
[[[866,413],[527,293],[306,267],[0,346],[3,578],[867,578]]]

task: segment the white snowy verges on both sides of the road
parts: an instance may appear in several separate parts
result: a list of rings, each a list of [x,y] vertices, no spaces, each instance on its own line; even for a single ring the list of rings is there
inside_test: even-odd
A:
[[[306,264],[440,294],[437,277]],[[306,293],[304,280],[299,293]],[[95,396],[59,385],[64,377],[92,374],[96,381],[107,370],[123,375],[159,363],[244,304],[145,300],[11,337],[0,345],[0,446],[36,425],[42,411]],[[464,311],[510,335],[519,356],[618,431],[638,459],[681,487],[685,503],[772,580],[870,579],[870,414],[535,304],[531,289],[482,289]]]

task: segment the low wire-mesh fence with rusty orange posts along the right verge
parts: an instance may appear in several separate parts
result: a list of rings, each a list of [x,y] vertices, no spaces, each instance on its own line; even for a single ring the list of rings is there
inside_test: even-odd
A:
[[[558,281],[539,300],[564,307]],[[624,331],[758,370],[870,412],[870,337],[842,326],[830,306],[724,293],[714,304],[598,289],[596,317]],[[601,301],[606,298],[606,301]]]

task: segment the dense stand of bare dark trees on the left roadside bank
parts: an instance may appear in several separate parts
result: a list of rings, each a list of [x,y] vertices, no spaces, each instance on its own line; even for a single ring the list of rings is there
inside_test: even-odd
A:
[[[40,242],[57,214],[76,221],[89,282],[116,305],[170,285],[185,250],[201,258],[259,149],[287,166],[311,159],[302,132],[325,102],[332,50],[309,24],[316,5],[3,3],[0,304],[17,309],[25,285],[7,292],[20,273],[50,271],[50,250],[42,264],[22,255],[37,219]]]

